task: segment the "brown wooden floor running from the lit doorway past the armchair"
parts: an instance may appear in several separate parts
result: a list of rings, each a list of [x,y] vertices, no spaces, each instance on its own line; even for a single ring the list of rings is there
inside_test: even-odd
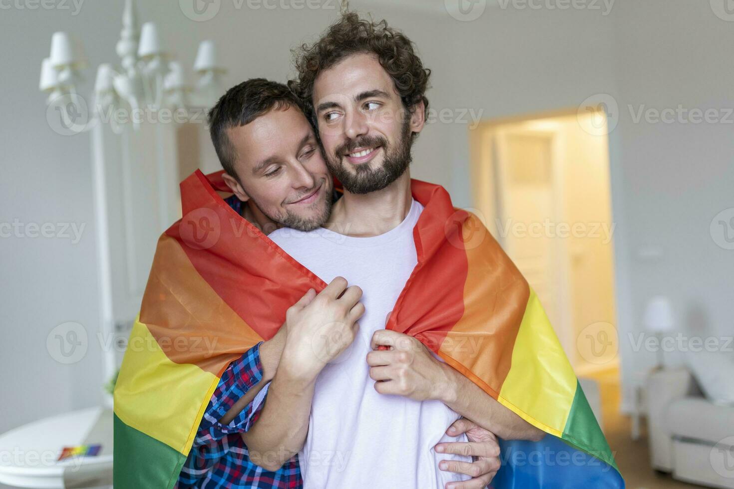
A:
[[[658,474],[650,468],[650,450],[647,446],[647,430],[642,422],[640,439],[631,437],[631,418],[619,413],[619,372],[609,369],[589,377],[597,380],[601,393],[603,428],[617,460],[619,471],[628,489],[676,489],[700,488],[672,479],[669,474]]]

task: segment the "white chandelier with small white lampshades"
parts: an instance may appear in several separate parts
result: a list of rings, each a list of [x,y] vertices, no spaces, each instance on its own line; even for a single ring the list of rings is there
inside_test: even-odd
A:
[[[199,79],[191,87],[181,63],[172,60],[161,43],[156,24],[146,22],[142,29],[138,25],[134,0],[126,0],[123,29],[117,41],[121,68],[110,63],[99,65],[92,104],[87,104],[77,91],[83,79],[81,71],[87,67],[81,43],[66,32],[53,34],[51,54],[41,65],[39,88],[48,94],[49,110],[61,114],[62,128],[57,132],[81,133],[99,122],[109,122],[115,133],[121,133],[128,124],[138,128],[146,113],[214,106],[224,92],[220,78],[225,73],[214,43],[200,43],[194,63]]]

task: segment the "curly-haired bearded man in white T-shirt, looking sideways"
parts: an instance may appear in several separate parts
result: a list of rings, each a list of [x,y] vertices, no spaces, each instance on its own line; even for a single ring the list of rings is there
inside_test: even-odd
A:
[[[277,229],[270,238],[324,282],[344,276],[361,287],[366,313],[335,361],[308,341],[281,357],[243,438],[251,454],[278,454],[271,468],[299,453],[306,488],[468,488],[468,477],[449,468],[468,457],[434,450],[466,438],[438,427],[465,416],[501,438],[543,433],[417,339],[385,329],[417,263],[413,227],[423,206],[411,194],[409,165],[430,71],[404,34],[355,13],[303,45],[296,67],[291,87],[344,196],[323,227]]]

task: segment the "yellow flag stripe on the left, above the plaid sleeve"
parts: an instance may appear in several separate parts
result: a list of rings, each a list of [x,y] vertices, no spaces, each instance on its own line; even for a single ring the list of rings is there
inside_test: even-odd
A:
[[[197,420],[219,378],[196,365],[168,359],[139,317],[115,386],[115,414],[125,424],[187,455]],[[192,426],[194,426],[192,428]]]

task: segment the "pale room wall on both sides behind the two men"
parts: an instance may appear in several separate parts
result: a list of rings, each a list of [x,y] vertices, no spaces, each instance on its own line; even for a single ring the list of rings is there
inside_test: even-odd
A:
[[[716,246],[708,229],[719,210],[734,207],[733,126],[634,124],[626,104],[733,106],[734,23],[716,18],[708,1],[619,0],[606,16],[495,6],[471,22],[454,20],[440,9],[442,1],[432,1],[437,7],[418,13],[385,4],[372,10],[418,44],[434,70],[429,98],[436,109],[506,117],[576,107],[600,92],[622,106],[611,133],[611,178],[625,380],[654,359],[654,353],[633,355],[626,340],[628,331],[639,329],[650,295],[671,295],[683,317],[703,317],[712,331],[730,332],[734,251]],[[285,79],[291,73],[288,49],[336,14],[250,10],[247,2],[236,10],[239,2],[223,0],[215,18],[194,22],[178,2],[140,3],[141,17],[159,22],[184,65],[191,65],[199,40],[214,39],[230,65],[228,84],[252,76]],[[98,307],[90,143],[87,136],[59,136],[49,128],[37,79],[57,30],[79,34],[92,67],[115,61],[121,10],[121,1],[85,1],[76,16],[62,10],[0,12],[0,222],[86,224],[76,244],[0,238],[0,432],[100,400],[97,342],[70,366],[46,350],[46,337],[59,323],[76,321],[95,331]],[[88,74],[91,79],[93,71]],[[446,185],[456,205],[471,204],[466,125],[429,125],[414,161],[415,177]],[[664,249],[661,260],[636,261],[635,250],[649,244]]]

